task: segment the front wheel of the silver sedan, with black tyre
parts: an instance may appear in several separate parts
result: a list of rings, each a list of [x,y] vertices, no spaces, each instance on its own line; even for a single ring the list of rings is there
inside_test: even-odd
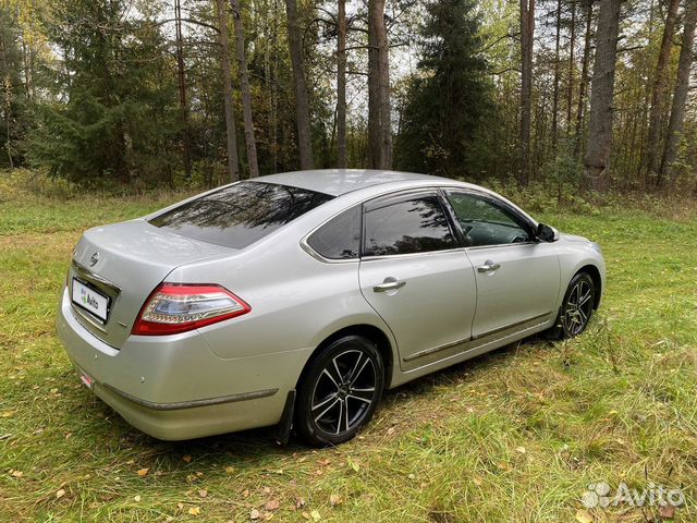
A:
[[[578,272],[568,282],[557,323],[551,330],[552,338],[574,338],[586,330],[595,302],[596,284],[588,272]]]

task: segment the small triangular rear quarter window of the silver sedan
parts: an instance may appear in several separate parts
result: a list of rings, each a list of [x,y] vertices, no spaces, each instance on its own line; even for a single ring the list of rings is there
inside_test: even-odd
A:
[[[358,257],[360,244],[360,206],[343,211],[317,229],[307,243],[329,259]]]

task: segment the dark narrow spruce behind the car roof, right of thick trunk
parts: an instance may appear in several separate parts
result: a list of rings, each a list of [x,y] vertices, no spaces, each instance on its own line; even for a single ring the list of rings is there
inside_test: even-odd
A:
[[[420,31],[423,59],[402,112],[401,169],[470,177],[473,141],[489,107],[487,62],[480,57],[473,0],[429,3]]]

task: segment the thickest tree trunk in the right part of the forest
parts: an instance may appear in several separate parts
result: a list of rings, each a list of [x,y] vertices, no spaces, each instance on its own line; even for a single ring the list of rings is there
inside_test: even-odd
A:
[[[612,102],[621,0],[600,0],[583,187],[604,192],[612,145]]]

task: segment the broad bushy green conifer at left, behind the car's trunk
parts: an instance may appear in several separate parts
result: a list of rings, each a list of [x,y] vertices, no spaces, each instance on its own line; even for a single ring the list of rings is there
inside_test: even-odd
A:
[[[30,160],[80,183],[171,179],[176,88],[166,41],[148,14],[129,20],[123,0],[70,0],[49,35],[63,61],[53,71],[65,104],[39,106]],[[99,179],[102,179],[100,182]]]

